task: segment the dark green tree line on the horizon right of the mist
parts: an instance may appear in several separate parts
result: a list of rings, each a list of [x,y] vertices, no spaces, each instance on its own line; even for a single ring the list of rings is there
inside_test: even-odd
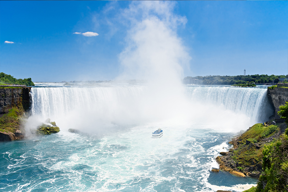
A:
[[[237,76],[220,76],[207,75],[196,77],[185,77],[184,80],[201,80],[203,85],[234,85],[243,83],[278,83],[279,78],[287,78],[288,75],[237,75]]]

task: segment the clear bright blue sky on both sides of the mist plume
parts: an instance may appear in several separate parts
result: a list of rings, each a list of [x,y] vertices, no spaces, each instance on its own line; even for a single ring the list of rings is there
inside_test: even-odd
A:
[[[190,58],[182,77],[242,75],[244,69],[246,75],[287,75],[287,1],[168,6],[173,18],[183,19],[167,24]],[[120,55],[131,43],[131,31],[146,14],[127,17],[127,10],[132,13],[131,1],[1,1],[0,71],[35,82],[116,79],[125,70]],[[157,9],[147,14],[165,17]]]

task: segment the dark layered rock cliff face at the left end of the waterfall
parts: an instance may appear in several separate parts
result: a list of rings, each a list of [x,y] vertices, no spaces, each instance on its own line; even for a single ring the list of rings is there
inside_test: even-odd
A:
[[[30,107],[30,92],[31,87],[26,88],[1,88],[0,89],[0,114],[8,113],[8,110],[13,106],[23,106],[24,110]]]

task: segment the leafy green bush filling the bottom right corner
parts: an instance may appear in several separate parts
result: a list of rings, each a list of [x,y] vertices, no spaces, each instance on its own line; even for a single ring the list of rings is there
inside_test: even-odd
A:
[[[263,173],[257,192],[288,191],[288,135],[282,134],[263,149]]]

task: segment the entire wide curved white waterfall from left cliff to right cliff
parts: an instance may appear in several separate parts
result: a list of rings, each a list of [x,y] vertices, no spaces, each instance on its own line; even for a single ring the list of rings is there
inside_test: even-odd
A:
[[[191,125],[208,120],[208,127],[213,127],[215,121],[227,119],[226,125],[216,127],[239,124],[237,129],[244,129],[273,114],[267,88],[186,86],[184,96],[172,90],[154,91],[148,85],[33,87],[31,112],[42,121],[51,118],[64,129],[86,130],[160,121]]]

